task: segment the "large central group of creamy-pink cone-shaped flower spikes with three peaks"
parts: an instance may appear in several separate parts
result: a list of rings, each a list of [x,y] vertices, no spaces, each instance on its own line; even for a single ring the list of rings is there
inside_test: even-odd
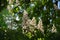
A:
[[[23,22],[22,22],[22,27],[23,29],[26,29],[26,31],[34,31],[34,29],[39,29],[42,33],[44,33],[44,29],[43,29],[43,23],[42,20],[39,20],[39,23],[36,25],[36,19],[35,17],[31,19],[29,19],[28,17],[28,13],[26,10],[24,10],[23,13]]]

